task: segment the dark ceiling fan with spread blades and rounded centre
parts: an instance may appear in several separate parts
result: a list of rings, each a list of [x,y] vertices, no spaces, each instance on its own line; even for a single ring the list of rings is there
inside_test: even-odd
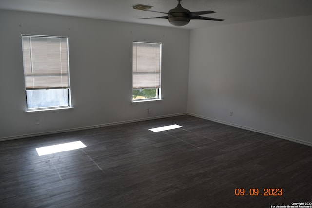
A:
[[[148,12],[158,12],[167,14],[162,17],[153,17],[153,18],[163,18],[168,19],[169,23],[175,26],[184,26],[187,25],[191,19],[203,19],[203,20],[213,20],[213,21],[223,21],[224,19],[216,19],[216,18],[208,18],[202,17],[200,15],[215,13],[214,11],[198,11],[198,12],[190,12],[190,10],[185,9],[181,5],[181,0],[178,0],[176,8],[170,9],[169,12],[158,12],[151,10],[144,10]],[[153,18],[137,18],[137,19],[153,19]]]

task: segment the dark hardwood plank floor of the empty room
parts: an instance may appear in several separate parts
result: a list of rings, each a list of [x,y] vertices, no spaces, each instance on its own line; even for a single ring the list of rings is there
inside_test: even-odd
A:
[[[172,124],[182,128],[148,130]],[[78,140],[87,147],[44,156],[35,150]],[[312,147],[187,115],[3,141],[0,159],[3,208],[270,208],[312,201]],[[236,196],[241,188],[245,194]],[[264,196],[264,189],[282,195]]]

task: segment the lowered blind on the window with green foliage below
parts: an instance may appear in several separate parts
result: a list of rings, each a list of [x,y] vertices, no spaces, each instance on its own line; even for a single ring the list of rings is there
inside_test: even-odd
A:
[[[161,43],[133,42],[132,88],[159,88]]]

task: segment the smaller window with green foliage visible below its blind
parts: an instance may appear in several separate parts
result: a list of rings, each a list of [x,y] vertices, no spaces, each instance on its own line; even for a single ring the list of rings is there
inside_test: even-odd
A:
[[[161,43],[132,43],[132,100],[160,99]]]

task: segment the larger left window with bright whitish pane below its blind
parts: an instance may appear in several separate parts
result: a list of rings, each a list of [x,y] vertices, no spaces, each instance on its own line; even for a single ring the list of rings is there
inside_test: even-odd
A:
[[[71,107],[68,37],[22,35],[27,110]]]

